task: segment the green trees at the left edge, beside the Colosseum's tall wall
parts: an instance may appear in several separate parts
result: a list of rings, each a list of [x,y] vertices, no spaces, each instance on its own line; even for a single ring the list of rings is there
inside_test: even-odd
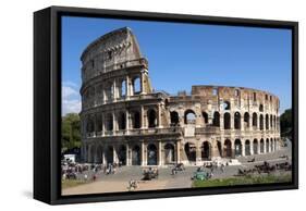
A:
[[[81,147],[81,121],[76,113],[62,116],[62,150]]]

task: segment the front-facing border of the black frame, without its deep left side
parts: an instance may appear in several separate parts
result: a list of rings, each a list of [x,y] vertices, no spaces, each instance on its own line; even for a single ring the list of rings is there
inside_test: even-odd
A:
[[[250,191],[285,190],[298,188],[298,23],[271,20],[253,20],[236,17],[218,17],[204,15],[169,14],[137,11],[120,11],[105,9],[51,7],[50,9],[50,137],[46,137],[50,146],[50,204],[118,201],[135,199],[154,199],[169,197],[187,197],[217,194],[243,194]],[[61,196],[60,188],[60,121],[61,121],[61,44],[60,44],[60,17],[62,14],[77,16],[113,16],[117,18],[140,18],[149,21],[166,21],[180,23],[220,24],[234,26],[276,27],[292,29],[292,103],[293,103],[293,182],[290,184],[272,184],[256,186],[234,186],[206,189],[167,189],[139,193],[113,193],[99,195],[73,195]],[[35,128],[34,128],[35,131]],[[37,149],[35,149],[37,150]],[[35,182],[34,182],[35,183]]]

